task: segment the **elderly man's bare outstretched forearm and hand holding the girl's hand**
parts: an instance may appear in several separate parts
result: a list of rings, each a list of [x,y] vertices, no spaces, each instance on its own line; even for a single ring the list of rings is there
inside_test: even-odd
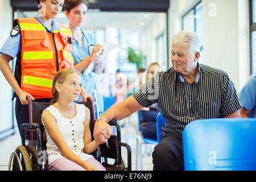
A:
[[[118,104],[110,107],[100,118],[106,119],[106,121],[111,121],[112,119],[121,120],[133,114],[137,110],[141,110],[141,106],[133,96],[128,97],[126,100],[119,102]],[[98,120],[95,123],[93,130],[93,137],[97,143],[105,143],[106,140],[112,135],[112,127],[104,120]],[[101,134],[101,127],[106,127],[108,129],[108,138],[105,138]]]

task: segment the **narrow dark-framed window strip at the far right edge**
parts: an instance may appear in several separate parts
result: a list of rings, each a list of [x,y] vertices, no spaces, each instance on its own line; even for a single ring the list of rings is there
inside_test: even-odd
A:
[[[250,0],[250,72],[256,72],[256,0]]]

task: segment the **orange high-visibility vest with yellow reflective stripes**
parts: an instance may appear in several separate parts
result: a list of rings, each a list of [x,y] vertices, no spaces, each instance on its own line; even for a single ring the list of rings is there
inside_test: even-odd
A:
[[[48,32],[36,18],[18,19],[22,48],[20,88],[34,98],[51,98],[57,71],[74,65],[72,31],[59,24],[61,31]]]

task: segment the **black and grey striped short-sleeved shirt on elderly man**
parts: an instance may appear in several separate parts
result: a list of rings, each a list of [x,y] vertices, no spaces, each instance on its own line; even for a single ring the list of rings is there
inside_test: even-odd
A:
[[[182,139],[184,127],[195,120],[224,118],[241,109],[236,89],[227,73],[199,64],[196,81],[189,84],[174,68],[159,72],[133,93],[143,107],[158,103],[166,118],[163,138]]]

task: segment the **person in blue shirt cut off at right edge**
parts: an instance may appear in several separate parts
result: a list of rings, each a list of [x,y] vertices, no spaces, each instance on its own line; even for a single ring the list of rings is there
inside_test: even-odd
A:
[[[238,93],[243,107],[240,109],[242,118],[256,118],[256,72],[250,76],[249,80]]]

